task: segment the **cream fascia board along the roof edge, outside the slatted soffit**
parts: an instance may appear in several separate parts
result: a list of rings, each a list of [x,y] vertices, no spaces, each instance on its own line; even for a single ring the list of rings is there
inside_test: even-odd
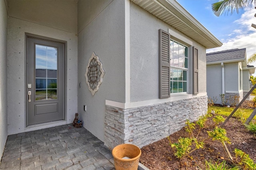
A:
[[[181,22],[189,26],[192,30],[198,32],[201,36],[214,43],[216,46],[222,46],[222,42],[218,40],[209,30],[207,30],[198,20],[196,20],[187,10],[185,10],[176,0],[153,0],[163,8],[167,8]]]

